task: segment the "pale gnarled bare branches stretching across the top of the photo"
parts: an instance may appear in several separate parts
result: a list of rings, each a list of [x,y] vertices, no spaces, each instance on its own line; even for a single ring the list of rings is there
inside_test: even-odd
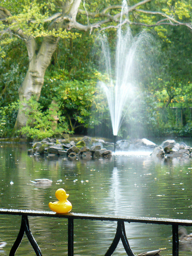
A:
[[[152,0],[143,0],[133,6],[128,7],[128,12],[140,12],[140,13],[145,13],[148,15],[157,15],[157,16],[161,16],[162,19],[158,20],[157,22],[154,22],[154,24],[144,24],[144,23],[137,23],[137,22],[131,22],[128,19],[124,19],[122,24],[130,24],[130,25],[137,25],[137,26],[144,26],[144,27],[156,27],[156,26],[160,26],[160,25],[172,25],[172,26],[186,26],[188,27],[190,30],[192,30],[192,24],[191,23],[182,23],[178,20],[176,20],[174,17],[167,15],[166,13],[163,12],[156,12],[156,11],[146,11],[146,10],[141,10],[141,9],[137,9],[139,6],[142,6],[148,2],[151,2]],[[43,23],[49,23],[52,22],[52,25],[54,28],[57,28],[57,26],[61,27],[63,26],[63,28],[67,28],[68,30],[71,30],[73,28],[81,30],[81,31],[92,31],[94,28],[99,28],[101,30],[105,30],[105,29],[109,29],[109,28],[118,28],[119,27],[119,18],[121,16],[121,12],[119,11],[118,14],[115,15],[111,15],[110,10],[115,10],[115,9],[121,9],[122,6],[121,5],[114,5],[114,6],[108,6],[106,8],[104,8],[101,12],[99,13],[92,13],[92,12],[88,12],[87,10],[81,10],[78,9],[79,5],[80,5],[81,0],[73,0],[73,1],[69,1],[67,0],[65,2],[65,7],[67,5],[67,11],[62,11],[61,12],[57,12],[54,15],[42,20]],[[69,8],[69,6],[71,6],[71,8]],[[63,7],[63,6],[62,6]],[[102,20],[99,20],[96,23],[90,24],[90,21],[87,25],[84,24],[80,24],[76,21],[76,15],[77,13],[86,15],[88,18],[92,17],[92,18],[101,18]],[[4,7],[0,7],[0,20],[7,20],[7,17],[11,16],[11,13],[6,10]],[[107,24],[111,23],[111,22],[115,22],[117,23],[117,25],[112,25],[112,26],[106,26]],[[7,23],[7,22],[6,22]],[[36,20],[30,20],[30,23],[37,23]],[[58,25],[57,25],[58,24]],[[62,24],[62,25],[60,25]],[[121,25],[122,25],[121,24]],[[105,26],[103,26],[105,25]],[[14,30],[13,27],[10,26],[10,30],[12,30],[12,33],[16,34],[19,38],[24,39],[24,40],[28,40],[28,37],[24,34],[24,32],[21,29],[18,30]],[[4,30],[4,32],[1,32],[1,34],[4,34],[6,32],[8,32],[9,30]]]

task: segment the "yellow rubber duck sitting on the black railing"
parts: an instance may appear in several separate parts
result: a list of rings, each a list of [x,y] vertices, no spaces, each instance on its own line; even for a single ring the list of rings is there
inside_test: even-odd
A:
[[[67,212],[70,212],[72,204],[67,200],[69,194],[66,194],[66,190],[63,188],[57,189],[55,196],[59,201],[49,202],[49,208],[57,214],[67,214]]]

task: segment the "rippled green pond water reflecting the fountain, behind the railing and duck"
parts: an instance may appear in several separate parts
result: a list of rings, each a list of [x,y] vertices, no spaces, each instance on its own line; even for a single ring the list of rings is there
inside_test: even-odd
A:
[[[49,210],[62,187],[70,194],[72,212],[130,217],[191,219],[192,160],[152,159],[150,152],[113,155],[110,160],[67,161],[63,157],[29,156],[30,144],[0,144],[0,208]],[[51,179],[51,186],[31,183]],[[19,216],[0,216],[0,242],[8,255],[19,227]],[[29,217],[30,229],[42,255],[67,255],[67,220]],[[165,248],[172,255],[172,227],[125,224],[135,254]],[[111,245],[116,223],[74,221],[74,254],[104,255]],[[190,232],[190,227],[187,228]],[[24,237],[16,255],[35,255]],[[113,255],[126,255],[120,242]],[[181,251],[180,255],[191,255]]]

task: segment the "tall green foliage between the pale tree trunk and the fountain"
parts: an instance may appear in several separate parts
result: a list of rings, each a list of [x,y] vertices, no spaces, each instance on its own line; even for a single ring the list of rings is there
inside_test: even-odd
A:
[[[102,75],[95,71],[91,59],[94,36],[86,33],[81,39],[59,41],[39,98],[47,108],[51,98],[56,97],[71,131],[80,133],[98,124],[97,114],[106,112],[104,96],[97,88]]]

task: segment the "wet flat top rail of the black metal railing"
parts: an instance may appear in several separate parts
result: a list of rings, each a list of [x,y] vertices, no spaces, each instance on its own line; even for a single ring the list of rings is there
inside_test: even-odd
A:
[[[39,211],[39,210],[20,210],[20,209],[3,209],[0,208],[0,214],[6,215],[26,215],[36,217],[53,217],[53,218],[67,218],[67,219],[81,219],[81,220],[100,220],[100,221],[124,221],[124,222],[138,222],[150,224],[164,224],[164,225],[184,225],[192,226],[192,220],[180,219],[164,219],[164,218],[148,218],[148,217],[129,217],[129,216],[106,216],[106,215],[90,215],[90,214],[55,214],[53,211]]]

